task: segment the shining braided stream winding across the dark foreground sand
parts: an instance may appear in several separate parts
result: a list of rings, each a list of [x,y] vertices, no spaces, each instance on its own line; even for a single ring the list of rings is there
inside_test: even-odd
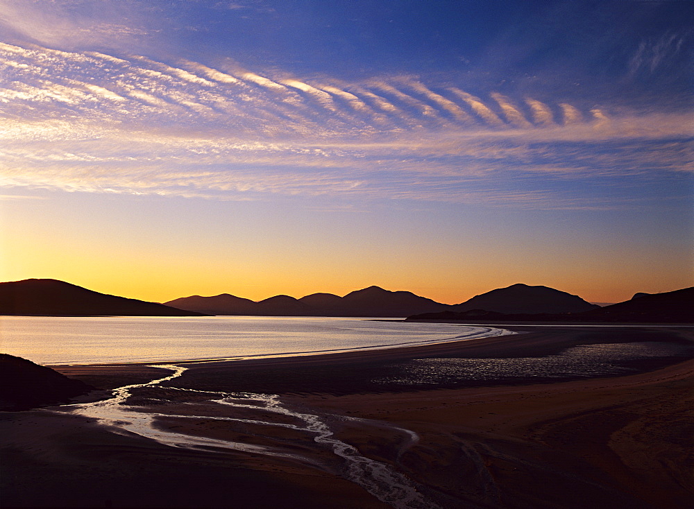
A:
[[[62,408],[69,410],[74,415],[82,415],[98,420],[101,426],[105,426],[115,433],[135,433],[145,438],[169,447],[181,447],[208,451],[210,454],[223,452],[224,449],[243,451],[250,454],[264,454],[298,460],[303,464],[326,470],[326,465],[321,460],[295,454],[280,447],[254,445],[219,438],[208,438],[179,433],[176,431],[160,429],[156,425],[158,417],[173,417],[176,419],[219,420],[235,421],[246,424],[261,424],[265,426],[280,426],[294,431],[310,433],[314,435],[313,441],[317,447],[332,451],[332,457],[339,462],[341,476],[362,486],[367,492],[373,494],[380,501],[388,503],[397,509],[435,509],[437,506],[423,497],[416,486],[406,476],[399,474],[389,465],[362,456],[359,450],[335,437],[335,430],[331,429],[325,416],[302,413],[287,408],[278,395],[263,395],[253,393],[207,392],[185,388],[166,387],[166,390],[181,390],[186,392],[198,392],[200,395],[210,395],[205,404],[219,404],[239,410],[261,410],[276,416],[282,416],[278,420],[253,420],[238,417],[225,417],[219,415],[181,415],[178,413],[158,413],[143,411],[142,406],[132,406],[127,403],[133,396],[132,390],[138,388],[153,388],[164,381],[180,377],[187,368],[173,364],[151,365],[152,368],[171,370],[166,377],[155,379],[147,383],[136,383],[122,386],[113,390],[113,397],[99,402],[66,405]],[[341,420],[353,420],[367,423],[366,420],[354,417],[340,417]],[[303,424],[291,424],[287,421],[296,420]],[[384,422],[379,426],[388,426],[393,433],[405,437],[400,446],[399,454],[418,442],[419,437],[414,431],[398,428]]]

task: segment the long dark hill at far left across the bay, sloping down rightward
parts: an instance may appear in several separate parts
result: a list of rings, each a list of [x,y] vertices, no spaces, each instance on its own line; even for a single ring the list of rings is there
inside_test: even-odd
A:
[[[200,316],[155,302],[106,295],[56,279],[0,283],[0,315]]]

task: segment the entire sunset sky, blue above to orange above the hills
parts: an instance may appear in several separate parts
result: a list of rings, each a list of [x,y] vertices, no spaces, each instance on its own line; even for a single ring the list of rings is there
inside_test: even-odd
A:
[[[0,0],[0,281],[694,285],[694,2]]]

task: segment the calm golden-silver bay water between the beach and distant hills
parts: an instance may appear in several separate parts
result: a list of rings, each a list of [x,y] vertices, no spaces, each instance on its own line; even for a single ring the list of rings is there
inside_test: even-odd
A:
[[[509,334],[491,327],[307,317],[0,316],[0,352],[40,364],[335,352]]]

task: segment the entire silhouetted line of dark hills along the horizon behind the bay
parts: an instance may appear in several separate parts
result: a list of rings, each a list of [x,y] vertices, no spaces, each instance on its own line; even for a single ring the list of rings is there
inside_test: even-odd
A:
[[[547,286],[513,284],[461,304],[441,304],[409,291],[369,286],[344,297],[313,293],[301,299],[275,295],[255,302],[228,293],[193,295],[158,304],[105,295],[56,279],[0,283],[0,315],[42,316],[346,316],[412,320],[694,321],[694,288],[637,293],[631,300],[599,307]]]

